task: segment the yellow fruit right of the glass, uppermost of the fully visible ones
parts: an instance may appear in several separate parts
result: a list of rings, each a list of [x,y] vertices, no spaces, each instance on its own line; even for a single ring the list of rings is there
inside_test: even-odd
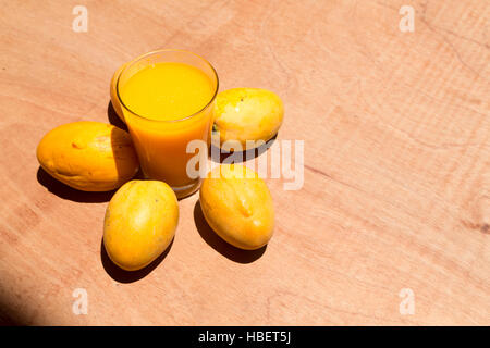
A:
[[[246,140],[267,141],[278,133],[284,107],[281,98],[270,90],[233,88],[218,94],[213,117],[213,128],[220,133],[219,146],[229,151],[240,145],[246,150],[253,148]]]

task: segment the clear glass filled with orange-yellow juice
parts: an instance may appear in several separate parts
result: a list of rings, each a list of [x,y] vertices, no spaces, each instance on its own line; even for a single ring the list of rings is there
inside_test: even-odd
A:
[[[187,153],[187,144],[209,145],[218,87],[212,65],[184,50],[146,53],[119,75],[117,96],[143,174],[169,184],[177,198],[199,188],[200,178],[187,174],[195,156]]]

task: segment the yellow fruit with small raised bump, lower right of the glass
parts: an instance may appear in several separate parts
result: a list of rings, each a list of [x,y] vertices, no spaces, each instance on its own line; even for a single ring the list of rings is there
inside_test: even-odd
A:
[[[209,226],[237,248],[259,249],[272,237],[272,197],[248,167],[222,164],[213,169],[203,181],[199,201]]]

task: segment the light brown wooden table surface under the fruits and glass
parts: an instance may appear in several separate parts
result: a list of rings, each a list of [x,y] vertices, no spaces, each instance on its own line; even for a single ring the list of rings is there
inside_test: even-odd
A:
[[[1,322],[490,324],[490,1],[0,3]],[[275,142],[304,140],[304,185],[266,181],[266,249],[219,239],[194,195],[166,254],[119,271],[101,251],[111,194],[39,171],[44,134],[117,122],[113,71],[157,48],[206,57],[221,90],[283,99]],[[78,288],[87,314],[73,312]]]

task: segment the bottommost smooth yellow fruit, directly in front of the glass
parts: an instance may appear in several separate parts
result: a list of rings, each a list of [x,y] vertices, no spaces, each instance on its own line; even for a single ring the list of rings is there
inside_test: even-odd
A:
[[[131,181],[112,197],[103,221],[103,246],[113,263],[137,271],[170,245],[179,223],[175,194],[163,182]]]

